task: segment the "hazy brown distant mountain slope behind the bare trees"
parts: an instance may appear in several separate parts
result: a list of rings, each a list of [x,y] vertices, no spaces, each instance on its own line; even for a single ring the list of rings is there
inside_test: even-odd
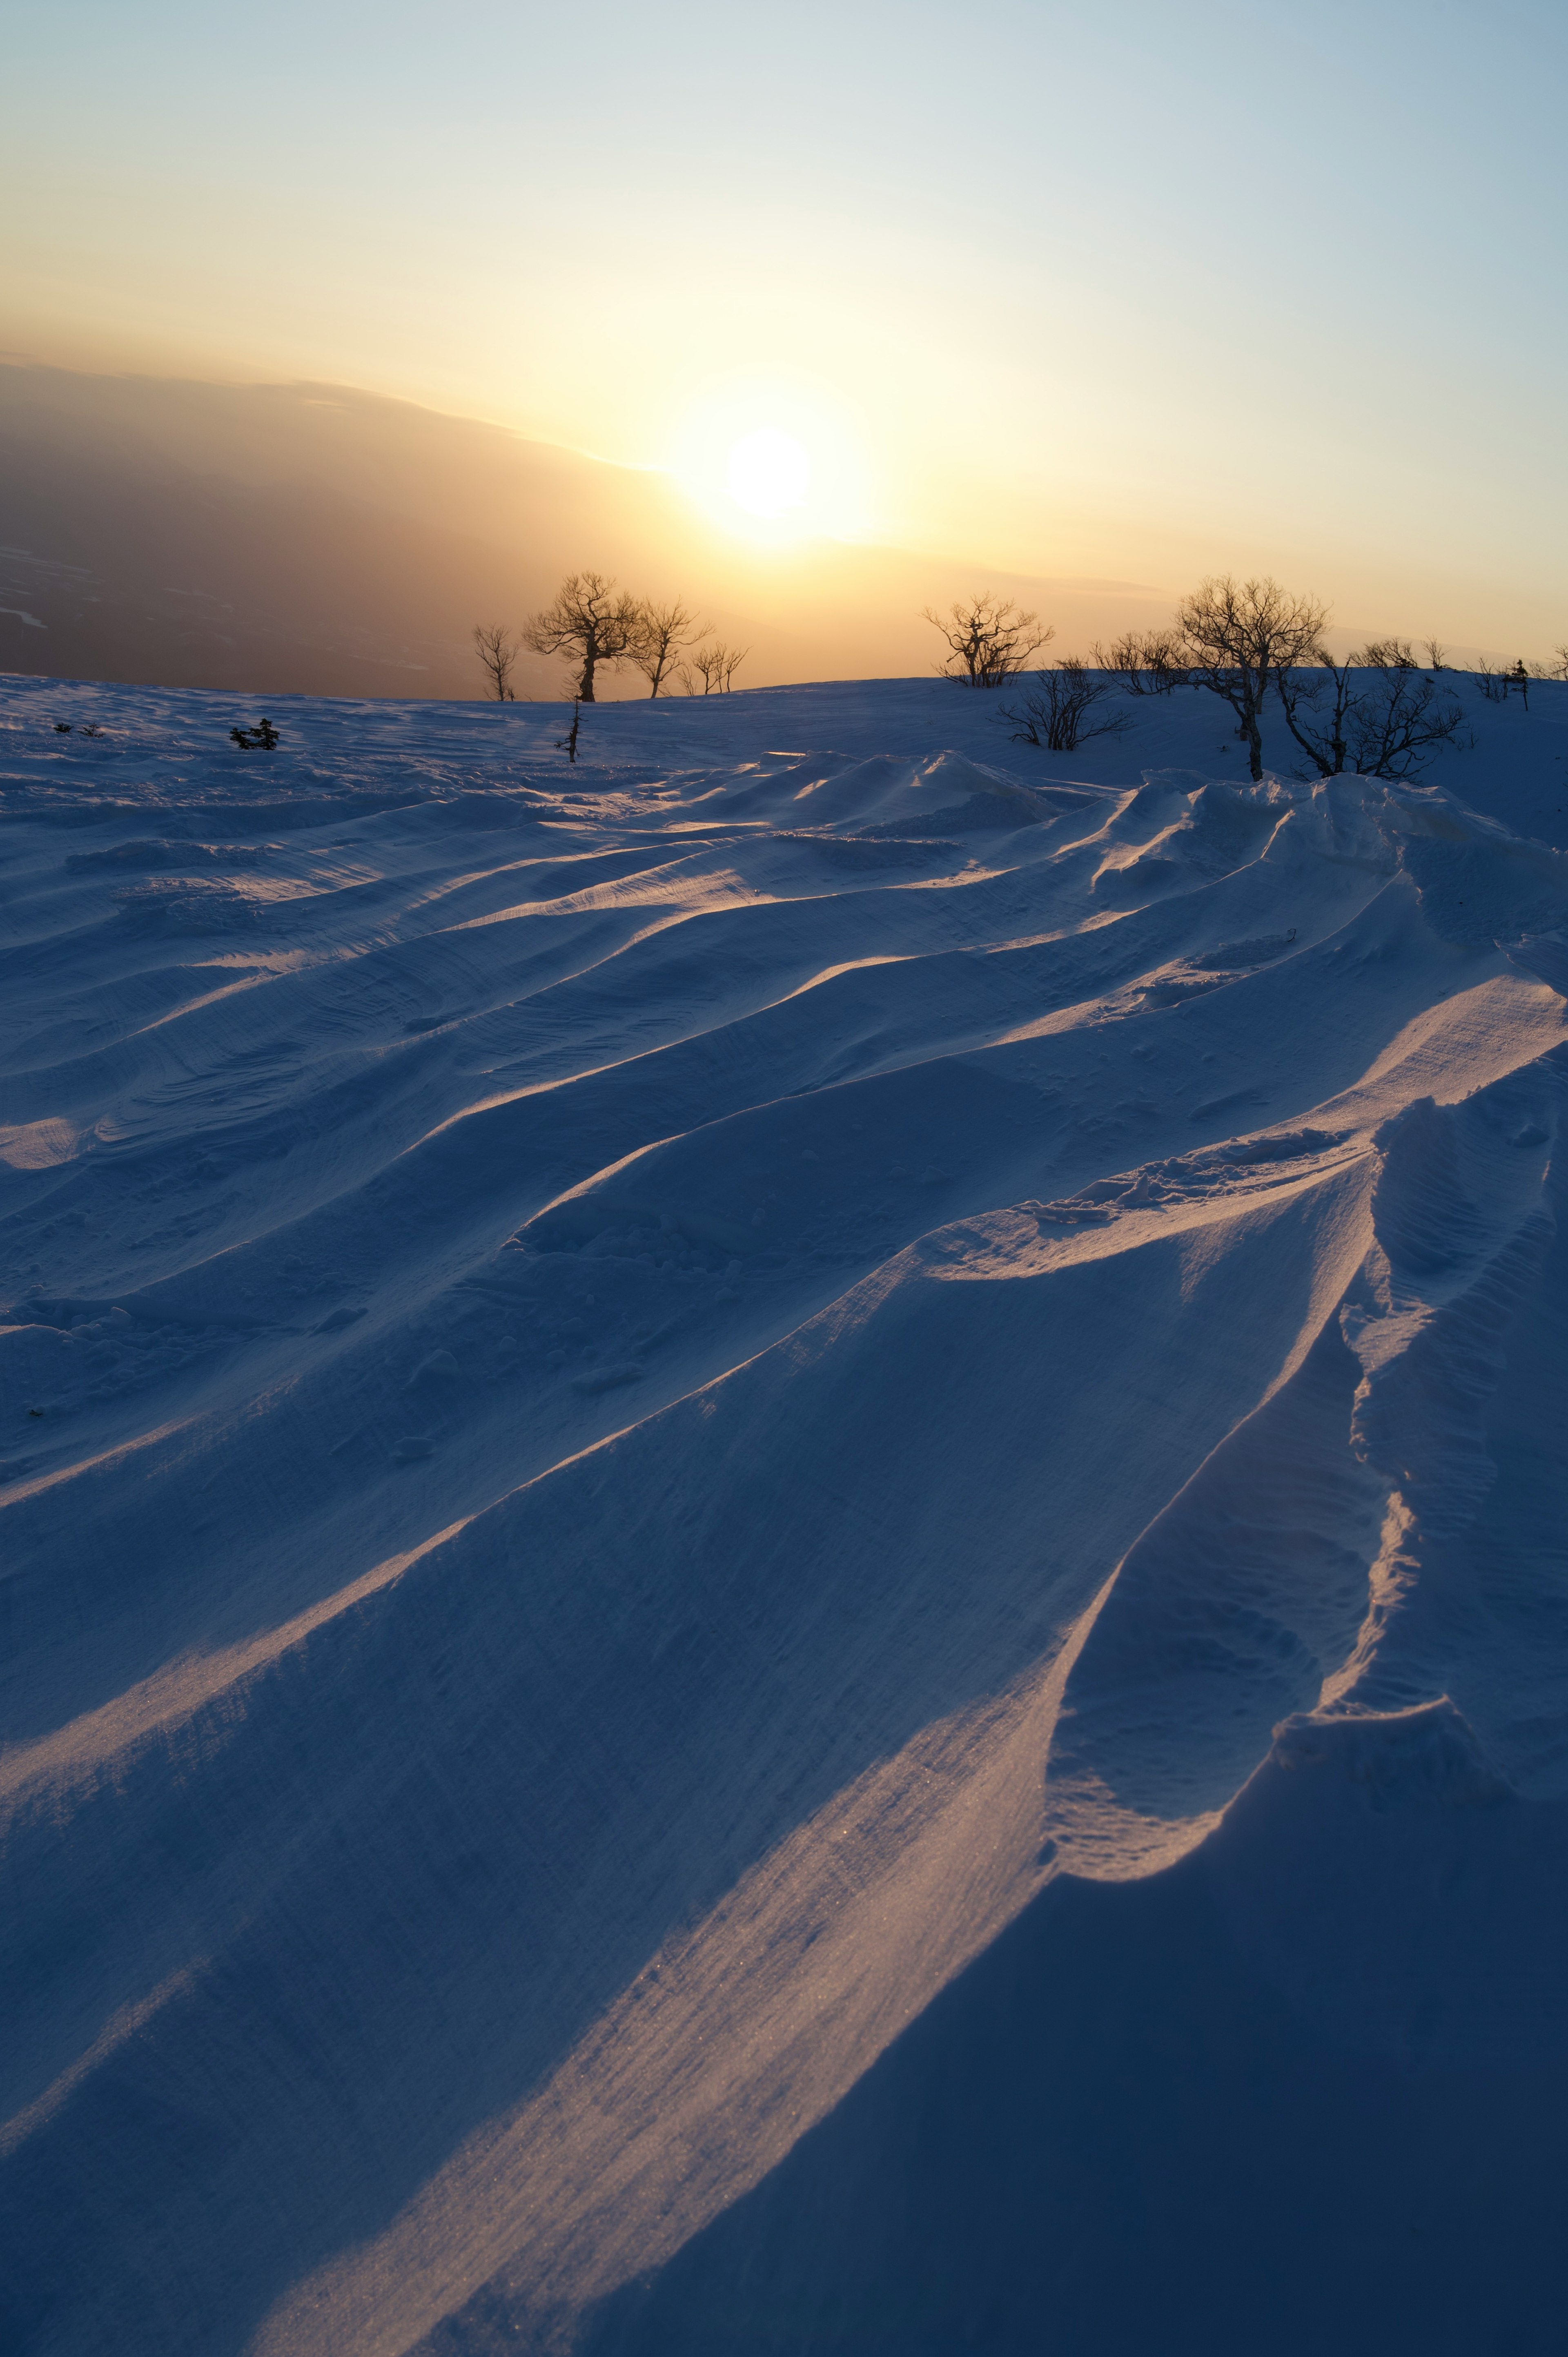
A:
[[[920,608],[976,580],[1040,606],[1061,646],[1165,610],[1137,585],[901,549],[757,552],[670,476],[347,387],[0,368],[0,669],[472,698],[474,622],[521,622],[578,566],[700,606],[750,648],[745,686],[922,672]],[[519,693],[559,688],[523,660]]]

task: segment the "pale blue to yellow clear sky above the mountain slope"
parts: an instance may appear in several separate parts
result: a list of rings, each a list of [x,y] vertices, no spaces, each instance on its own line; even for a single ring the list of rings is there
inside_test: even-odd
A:
[[[396,394],[762,540],[1568,639],[1561,7],[7,14],[12,356]]]

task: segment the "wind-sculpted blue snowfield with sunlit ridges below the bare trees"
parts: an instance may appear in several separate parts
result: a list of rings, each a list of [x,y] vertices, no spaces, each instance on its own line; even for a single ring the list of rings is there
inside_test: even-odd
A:
[[[1568,856],[1198,721],[75,693],[0,712],[7,2348],[1547,2348]]]

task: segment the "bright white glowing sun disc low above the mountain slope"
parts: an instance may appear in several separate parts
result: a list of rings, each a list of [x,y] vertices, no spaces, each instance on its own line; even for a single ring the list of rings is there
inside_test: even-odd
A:
[[[757,372],[703,387],[674,427],[672,474],[714,523],[757,547],[870,526],[865,431],[811,377]]]

